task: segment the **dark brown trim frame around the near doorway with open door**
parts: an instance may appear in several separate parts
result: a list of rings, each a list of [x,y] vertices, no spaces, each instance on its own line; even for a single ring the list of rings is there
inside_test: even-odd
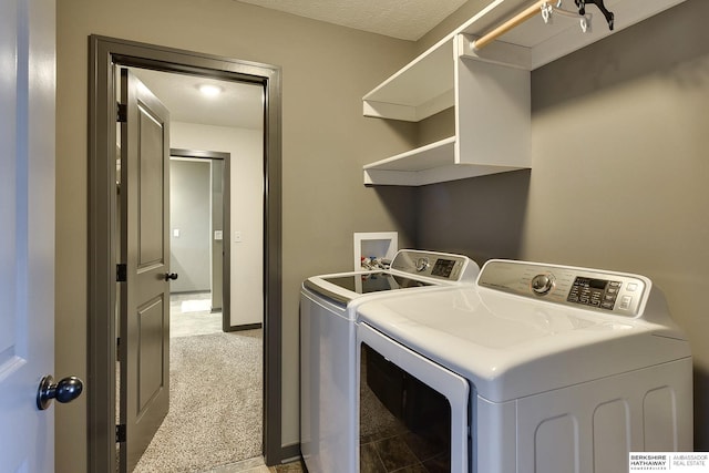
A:
[[[89,470],[115,471],[116,301],[114,164],[117,105],[115,68],[134,66],[259,84],[264,91],[263,166],[263,454],[282,460],[280,423],[280,70],[169,48],[103,37],[90,39],[90,235],[89,235]],[[237,111],[235,111],[237,113]]]

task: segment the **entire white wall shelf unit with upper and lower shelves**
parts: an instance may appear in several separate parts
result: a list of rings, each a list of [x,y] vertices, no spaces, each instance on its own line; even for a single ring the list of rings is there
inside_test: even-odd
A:
[[[682,1],[605,3],[615,13],[615,31],[619,31]],[[419,122],[455,107],[455,136],[366,165],[364,184],[424,185],[530,167],[528,72],[613,32],[589,3],[590,32],[582,32],[578,20],[553,14],[546,24],[540,14],[484,49],[471,47],[528,4],[528,0],[492,1],[364,95],[363,114],[380,119]],[[565,0],[563,7],[574,10],[575,4]]]

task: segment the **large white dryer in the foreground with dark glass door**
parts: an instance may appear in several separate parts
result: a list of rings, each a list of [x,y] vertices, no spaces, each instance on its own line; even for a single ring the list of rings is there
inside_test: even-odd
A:
[[[629,452],[692,450],[689,345],[643,276],[491,260],[472,288],[357,310],[354,471],[627,472]]]

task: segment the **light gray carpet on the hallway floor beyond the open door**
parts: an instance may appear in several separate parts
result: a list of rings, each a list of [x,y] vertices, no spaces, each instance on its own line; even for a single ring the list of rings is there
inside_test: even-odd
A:
[[[204,472],[261,454],[261,333],[171,340],[169,413],[134,472]]]

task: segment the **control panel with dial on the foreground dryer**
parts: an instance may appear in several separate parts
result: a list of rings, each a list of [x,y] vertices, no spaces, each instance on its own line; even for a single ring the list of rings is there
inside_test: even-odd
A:
[[[477,285],[536,300],[638,317],[651,282],[638,275],[493,259]]]

